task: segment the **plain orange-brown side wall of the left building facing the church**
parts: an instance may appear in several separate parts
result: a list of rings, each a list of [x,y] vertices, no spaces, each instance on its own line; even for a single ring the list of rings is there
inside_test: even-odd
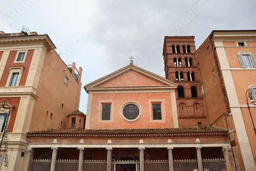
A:
[[[65,76],[69,79],[68,85],[64,82]],[[64,129],[67,125],[66,116],[79,108],[79,86],[81,83],[75,80],[57,53],[54,50],[47,51],[38,83],[38,98],[34,105],[30,131]]]

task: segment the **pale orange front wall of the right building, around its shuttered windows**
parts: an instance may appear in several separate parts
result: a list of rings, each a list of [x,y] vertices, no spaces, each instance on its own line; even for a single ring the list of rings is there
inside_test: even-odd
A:
[[[228,46],[228,45],[234,45],[236,42],[230,42],[229,44],[226,44],[224,42],[223,44]],[[237,54],[239,52],[250,52],[256,56],[256,42],[255,41],[246,41],[247,47],[237,47],[237,45],[234,45],[236,47],[230,48],[230,47],[225,47],[225,52],[226,56],[228,59],[228,64],[230,68],[241,68],[239,59]],[[253,47],[251,47],[253,46]],[[247,69],[242,69],[242,70],[231,70],[231,75],[234,83],[234,87],[236,89],[236,93],[238,96],[238,101],[240,105],[247,105],[246,104],[246,98],[245,98],[245,93],[248,90],[248,87],[250,85],[256,85],[256,70],[247,70]],[[250,101],[250,98],[248,98]],[[249,104],[251,104],[249,102]],[[248,108],[241,108],[244,123],[245,123],[245,128],[246,132],[249,138],[252,154],[254,157],[254,160],[256,159],[256,136],[253,131],[253,125],[252,121],[250,118],[249,110]],[[256,122],[256,108],[250,108],[251,114],[252,114],[252,119],[254,121],[254,125]]]

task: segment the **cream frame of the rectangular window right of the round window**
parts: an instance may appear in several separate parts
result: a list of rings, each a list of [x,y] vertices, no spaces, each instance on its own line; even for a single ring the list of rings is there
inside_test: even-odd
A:
[[[162,119],[154,120],[153,118],[153,104],[161,104],[161,115]],[[165,105],[164,99],[157,99],[157,100],[148,100],[149,110],[150,110],[150,122],[165,122]]]

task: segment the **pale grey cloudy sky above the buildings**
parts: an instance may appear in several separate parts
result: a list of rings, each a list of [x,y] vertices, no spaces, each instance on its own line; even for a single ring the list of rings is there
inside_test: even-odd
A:
[[[254,0],[1,0],[0,30],[25,25],[47,33],[66,64],[82,67],[85,86],[129,65],[131,56],[134,65],[164,77],[164,36],[196,36],[198,48],[212,30],[256,29],[255,7]],[[83,113],[87,98],[82,89]]]

